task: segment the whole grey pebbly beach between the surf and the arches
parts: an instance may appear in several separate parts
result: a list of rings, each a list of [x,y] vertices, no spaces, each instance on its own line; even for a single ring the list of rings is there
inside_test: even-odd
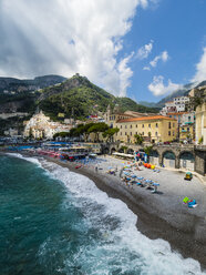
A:
[[[197,259],[202,268],[206,268],[206,184],[198,177],[185,181],[184,173],[166,169],[159,169],[159,173],[143,166],[141,171],[134,170],[133,173],[137,176],[159,184],[158,192],[152,193],[136,184],[127,186],[122,182],[120,171],[127,162],[112,156],[99,156],[97,164],[91,163],[80,169],[75,169],[76,163],[43,157],[85,175],[109,196],[125,202],[138,217],[136,224],[138,231],[152,240],[168,241],[174,251],[184,257]],[[116,175],[107,174],[109,167],[117,169]],[[185,196],[195,198],[197,207],[189,208],[184,204]]]

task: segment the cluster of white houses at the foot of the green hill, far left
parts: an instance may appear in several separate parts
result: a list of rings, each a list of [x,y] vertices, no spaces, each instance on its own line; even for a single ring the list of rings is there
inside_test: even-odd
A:
[[[31,136],[34,139],[53,139],[55,133],[70,132],[73,128],[72,124],[62,124],[60,122],[51,121],[42,111],[24,122],[24,125],[23,136]]]

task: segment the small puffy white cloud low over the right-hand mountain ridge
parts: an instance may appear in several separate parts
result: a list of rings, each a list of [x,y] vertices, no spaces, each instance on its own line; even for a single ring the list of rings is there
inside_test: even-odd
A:
[[[158,75],[153,78],[153,82],[148,85],[148,90],[155,95],[163,95],[174,92],[177,89],[181,89],[181,84],[175,84],[168,80],[168,84],[164,84],[164,77]]]

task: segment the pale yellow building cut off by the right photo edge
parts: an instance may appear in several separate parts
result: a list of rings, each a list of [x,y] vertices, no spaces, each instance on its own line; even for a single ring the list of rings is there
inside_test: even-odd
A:
[[[206,102],[196,108],[195,135],[196,143],[206,145]]]

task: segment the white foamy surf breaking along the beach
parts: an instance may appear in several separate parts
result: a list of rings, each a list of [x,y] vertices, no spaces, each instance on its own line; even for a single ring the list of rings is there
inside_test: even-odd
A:
[[[12,154],[13,155],[13,154]],[[24,159],[41,165],[49,175],[65,186],[82,210],[87,231],[93,227],[101,242],[82,245],[65,266],[75,263],[83,274],[141,274],[141,275],[203,275],[200,265],[193,258],[183,258],[172,252],[168,242],[152,241],[136,228],[137,216],[120,200],[111,198],[87,177],[70,172],[55,163],[34,157]],[[68,202],[65,198],[64,207]],[[80,225],[81,226],[81,225]],[[85,231],[85,227],[84,227]],[[40,255],[47,248],[42,244]]]

